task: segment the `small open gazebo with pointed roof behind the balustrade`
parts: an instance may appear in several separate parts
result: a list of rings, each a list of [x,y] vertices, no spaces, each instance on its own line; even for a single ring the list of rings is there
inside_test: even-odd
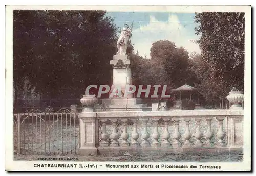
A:
[[[192,87],[192,86],[189,86],[187,84],[181,86],[181,87],[178,87],[176,89],[172,89],[172,91],[174,92],[174,100],[175,100],[175,105],[174,106],[180,106],[181,104],[181,101],[182,101],[182,92],[183,94],[187,94],[189,93],[190,94],[190,100],[192,100],[192,94],[197,92],[197,89],[195,87]],[[180,100],[177,100],[176,101],[176,94],[177,92],[179,92],[180,94]],[[197,97],[197,105],[199,104],[199,97]]]

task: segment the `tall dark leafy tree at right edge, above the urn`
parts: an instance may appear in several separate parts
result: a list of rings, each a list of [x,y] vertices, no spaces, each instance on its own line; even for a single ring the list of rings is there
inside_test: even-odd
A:
[[[196,13],[195,29],[202,59],[209,66],[209,80],[227,96],[231,87],[244,89],[244,13]]]

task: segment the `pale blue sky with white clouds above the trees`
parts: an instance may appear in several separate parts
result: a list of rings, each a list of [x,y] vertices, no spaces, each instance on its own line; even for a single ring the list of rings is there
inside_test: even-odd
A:
[[[199,39],[195,34],[195,13],[165,13],[165,12],[108,12],[114,18],[114,23],[122,28],[124,23],[134,20],[131,42],[135,51],[141,56],[150,58],[150,48],[158,40],[170,40],[177,47],[183,46],[189,53],[201,53],[199,45],[194,40]]]

